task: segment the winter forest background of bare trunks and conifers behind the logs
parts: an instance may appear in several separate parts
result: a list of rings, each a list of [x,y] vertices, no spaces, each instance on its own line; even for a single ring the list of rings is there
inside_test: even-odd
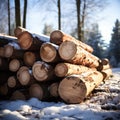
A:
[[[102,39],[97,23],[108,5],[109,0],[0,0],[0,33],[14,35],[17,26],[33,31],[40,23],[36,28],[39,33],[62,30],[91,45],[93,54],[108,58],[112,67],[120,67],[119,18],[114,21],[109,43]]]

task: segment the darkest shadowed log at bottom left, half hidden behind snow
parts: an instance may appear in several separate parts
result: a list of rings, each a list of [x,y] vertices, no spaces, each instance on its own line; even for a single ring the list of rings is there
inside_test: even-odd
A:
[[[26,89],[16,90],[11,95],[10,100],[27,100],[29,99],[29,92]]]

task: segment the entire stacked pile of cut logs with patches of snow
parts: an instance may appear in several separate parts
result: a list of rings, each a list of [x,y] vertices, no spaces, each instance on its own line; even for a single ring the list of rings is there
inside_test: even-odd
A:
[[[55,30],[37,35],[18,27],[0,34],[0,98],[80,103],[112,75],[108,59],[93,48]]]

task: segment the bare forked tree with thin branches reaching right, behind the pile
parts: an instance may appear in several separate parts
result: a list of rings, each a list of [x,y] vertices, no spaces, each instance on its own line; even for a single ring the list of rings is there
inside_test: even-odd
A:
[[[77,33],[78,39],[84,41],[85,24],[88,22],[88,16],[94,16],[94,12],[98,12],[105,7],[106,1],[101,0],[76,0],[77,11]]]

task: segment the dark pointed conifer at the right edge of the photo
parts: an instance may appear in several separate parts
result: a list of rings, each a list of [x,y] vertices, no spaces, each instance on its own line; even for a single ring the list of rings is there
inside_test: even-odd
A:
[[[114,56],[117,64],[120,62],[120,21],[117,19],[109,46],[109,58]]]

